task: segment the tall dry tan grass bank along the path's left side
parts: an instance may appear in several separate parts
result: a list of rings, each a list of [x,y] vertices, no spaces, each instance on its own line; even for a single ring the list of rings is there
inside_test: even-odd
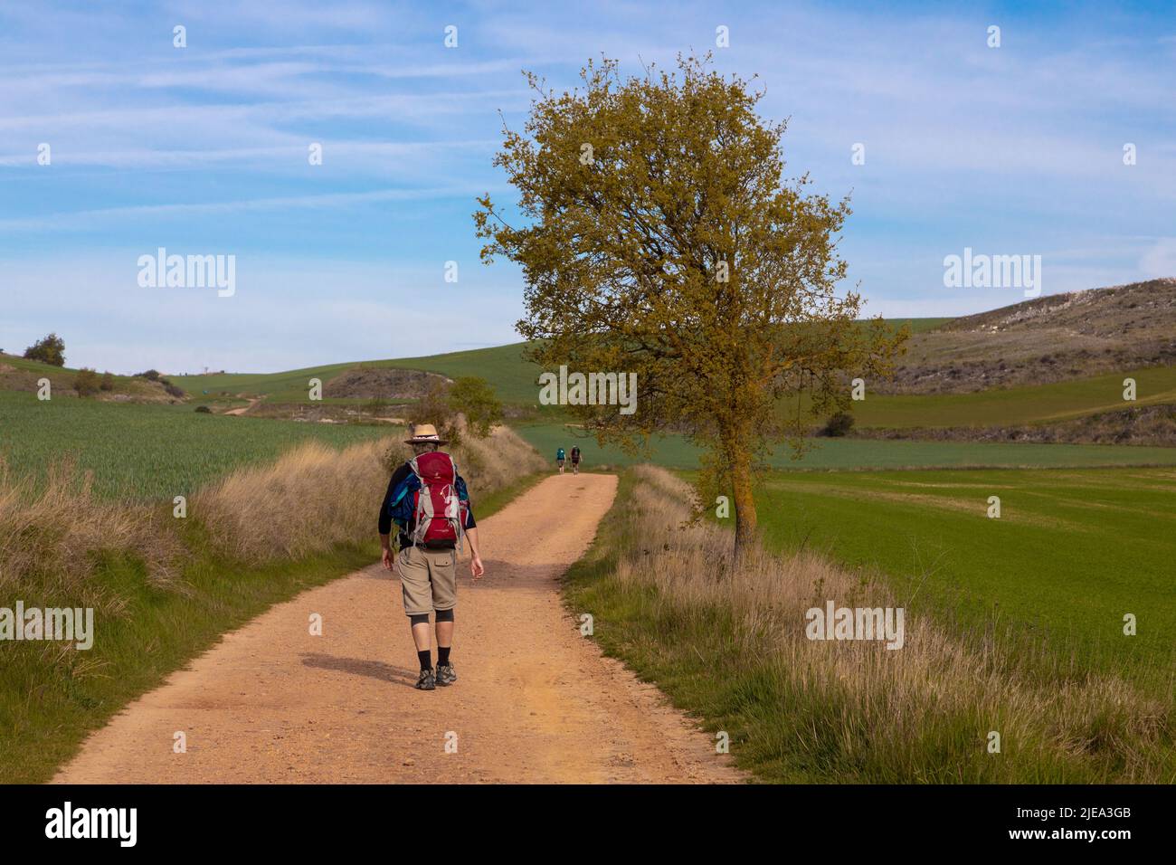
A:
[[[243,564],[370,539],[389,473],[410,455],[400,432],[343,451],[309,443],[275,463],[238,470],[194,495],[188,519],[207,530],[220,554]],[[505,427],[486,440],[467,438],[453,453],[475,501],[544,467]],[[139,559],[155,585],[169,585],[183,548],[178,530],[171,503],[102,500],[72,461],[39,481],[14,479],[0,463],[0,590],[6,594],[35,584],[45,597],[88,598],[105,608],[106,593],[91,579],[103,553]]]

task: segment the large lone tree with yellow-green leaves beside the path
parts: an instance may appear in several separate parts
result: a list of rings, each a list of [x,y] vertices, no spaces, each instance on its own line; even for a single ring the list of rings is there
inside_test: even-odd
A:
[[[799,453],[810,419],[848,407],[847,373],[888,373],[906,333],[857,322],[860,295],[835,294],[848,200],[807,194],[808,175],[784,180],[786,125],[761,121],[762,93],[709,60],[628,79],[589,61],[564,93],[528,73],[529,119],[503,128],[495,158],[517,211],[487,194],[474,221],[485,262],[522,267],[528,358],[636,373],[632,414],[573,413],[602,445],[636,451],[664,431],[701,445],[701,500],[730,491],[740,555],[771,446]]]

